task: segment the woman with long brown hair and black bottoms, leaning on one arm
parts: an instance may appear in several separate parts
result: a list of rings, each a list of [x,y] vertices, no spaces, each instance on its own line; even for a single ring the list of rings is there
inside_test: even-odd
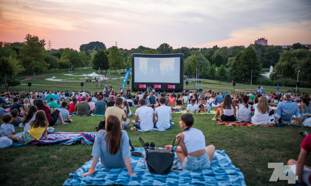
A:
[[[219,104],[218,109],[216,111],[215,116],[212,120],[216,120],[217,116],[220,115],[220,118],[223,122],[234,122],[236,121],[236,118],[234,114],[236,113],[236,108],[231,100],[231,97],[229,94],[225,95],[225,100],[221,104]]]

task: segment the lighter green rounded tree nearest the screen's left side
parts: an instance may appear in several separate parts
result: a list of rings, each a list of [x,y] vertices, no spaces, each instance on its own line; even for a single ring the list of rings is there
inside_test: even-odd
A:
[[[108,63],[110,70],[116,70],[115,74],[117,74],[117,69],[124,68],[124,61],[123,54],[119,51],[118,47],[110,47],[108,55]]]

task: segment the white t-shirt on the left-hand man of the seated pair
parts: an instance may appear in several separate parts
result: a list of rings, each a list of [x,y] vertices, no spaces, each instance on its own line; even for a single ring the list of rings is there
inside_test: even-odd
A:
[[[155,113],[154,109],[152,109],[151,107],[147,107],[147,106],[139,107],[136,110],[135,115],[139,117],[140,128],[142,130],[148,130],[148,129],[154,128],[154,121],[153,121],[154,113]]]

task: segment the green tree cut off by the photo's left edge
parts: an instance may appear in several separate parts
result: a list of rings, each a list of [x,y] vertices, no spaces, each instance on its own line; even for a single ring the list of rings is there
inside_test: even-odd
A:
[[[0,58],[0,76],[2,77],[2,83],[4,83],[6,90],[20,83],[16,75],[23,70],[23,66],[19,64],[16,58],[12,56]]]

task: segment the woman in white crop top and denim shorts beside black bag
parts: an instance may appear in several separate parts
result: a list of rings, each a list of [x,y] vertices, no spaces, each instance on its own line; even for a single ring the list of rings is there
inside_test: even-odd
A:
[[[214,145],[205,147],[205,137],[202,131],[193,128],[194,118],[192,114],[182,114],[180,116],[179,125],[183,128],[183,132],[177,136],[176,142],[180,140],[179,146],[176,148],[176,154],[183,169],[186,170],[202,170],[210,167],[210,161],[215,151]],[[172,149],[172,145],[167,145],[167,149]]]

